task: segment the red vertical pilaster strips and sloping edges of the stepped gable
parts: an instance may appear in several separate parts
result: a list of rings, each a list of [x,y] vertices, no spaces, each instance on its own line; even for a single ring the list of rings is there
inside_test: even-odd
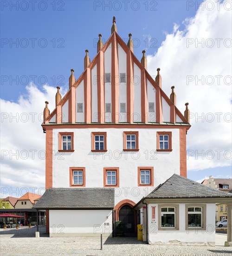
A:
[[[67,94],[64,95],[63,99],[58,103],[58,106],[48,116],[44,123],[48,123],[54,114],[56,114],[56,122],[62,123],[62,106],[69,100],[69,123],[78,123],[76,120],[76,88],[84,80],[84,122],[92,123],[92,68],[97,65],[97,121],[98,123],[104,123],[104,52],[110,46],[111,51],[111,102],[112,112],[111,120],[112,123],[118,123],[119,117],[119,63],[118,63],[118,44],[122,47],[126,53],[127,58],[127,122],[133,123],[134,114],[134,64],[141,70],[141,121],[142,123],[148,122],[148,85],[147,81],[155,88],[155,109],[156,109],[156,123],[162,123],[163,121],[163,109],[162,100],[165,100],[170,107],[170,122],[175,123],[176,115],[178,115],[184,123],[187,123],[185,117],[180,111],[174,106],[174,103],[169,97],[163,92],[159,85],[154,81],[148,71],[142,66],[140,61],[135,57],[130,48],[120,38],[120,36],[114,31],[110,38],[103,46],[103,48],[97,53],[95,58],[90,62],[89,66],[80,75],[74,85],[70,88]]]

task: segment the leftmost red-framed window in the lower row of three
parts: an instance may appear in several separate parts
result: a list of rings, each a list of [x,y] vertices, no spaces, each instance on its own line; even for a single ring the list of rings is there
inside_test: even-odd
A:
[[[85,168],[70,167],[69,181],[70,181],[70,187],[85,187]]]

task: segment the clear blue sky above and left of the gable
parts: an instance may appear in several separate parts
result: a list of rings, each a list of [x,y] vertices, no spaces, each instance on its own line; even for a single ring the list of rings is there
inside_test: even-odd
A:
[[[37,1],[34,11],[31,4],[11,1],[19,3],[17,10],[10,4],[5,7],[3,2],[1,98],[10,101],[25,93],[26,83],[33,76],[40,88],[45,81],[53,86],[67,83],[71,68],[77,78],[84,69],[85,49],[93,59],[98,34],[102,34],[103,42],[110,37],[113,16],[123,39],[132,33],[135,55],[140,59],[143,49],[154,54],[165,40],[165,33],[172,32],[174,23],[181,25],[196,12],[195,6],[187,8],[183,0],[130,1],[127,10],[125,3],[120,8],[118,1],[46,1],[47,7]]]

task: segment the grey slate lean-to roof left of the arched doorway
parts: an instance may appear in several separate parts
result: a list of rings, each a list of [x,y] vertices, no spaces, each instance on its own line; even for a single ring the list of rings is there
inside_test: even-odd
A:
[[[114,189],[47,189],[36,209],[113,209]]]

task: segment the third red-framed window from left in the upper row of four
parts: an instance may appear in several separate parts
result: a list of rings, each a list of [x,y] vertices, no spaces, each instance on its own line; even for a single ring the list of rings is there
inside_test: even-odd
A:
[[[139,132],[123,132],[123,151],[139,151]]]

